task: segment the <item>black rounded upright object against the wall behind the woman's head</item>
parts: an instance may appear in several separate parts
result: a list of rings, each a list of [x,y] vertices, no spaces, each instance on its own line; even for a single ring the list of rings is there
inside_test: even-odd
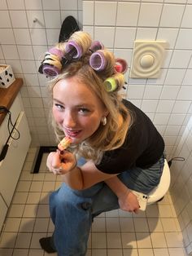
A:
[[[61,26],[60,34],[59,34],[59,42],[63,42],[68,40],[72,33],[79,31],[79,26],[76,23],[76,19],[72,16],[68,16],[63,20],[63,24]]]

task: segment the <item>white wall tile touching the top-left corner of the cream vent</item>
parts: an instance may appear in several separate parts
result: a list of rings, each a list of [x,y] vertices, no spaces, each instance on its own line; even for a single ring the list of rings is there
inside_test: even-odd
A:
[[[133,42],[135,39],[135,28],[120,28],[116,27],[116,48],[133,48]]]

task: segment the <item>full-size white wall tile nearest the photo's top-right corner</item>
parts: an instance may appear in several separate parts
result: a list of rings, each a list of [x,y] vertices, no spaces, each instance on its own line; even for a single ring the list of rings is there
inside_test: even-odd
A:
[[[181,24],[184,8],[184,5],[164,4],[160,26],[178,28]],[[174,15],[170,15],[171,13]]]

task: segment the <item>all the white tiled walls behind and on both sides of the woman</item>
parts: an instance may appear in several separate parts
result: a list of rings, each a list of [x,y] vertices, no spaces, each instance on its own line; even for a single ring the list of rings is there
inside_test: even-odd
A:
[[[154,121],[164,136],[168,158],[185,157],[172,164],[171,192],[188,249],[192,241],[191,13],[192,0],[0,0],[0,63],[11,64],[15,77],[24,78],[21,95],[34,145],[55,141],[48,121],[46,77],[37,68],[42,52],[58,41],[67,15],[116,56],[128,60],[129,67],[135,39],[168,42],[160,77],[130,79],[128,72],[125,97]]]

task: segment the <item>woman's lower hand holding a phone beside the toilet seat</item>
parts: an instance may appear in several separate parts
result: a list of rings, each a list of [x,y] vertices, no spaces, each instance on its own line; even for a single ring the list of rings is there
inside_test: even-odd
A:
[[[121,210],[126,210],[129,212],[138,213],[139,204],[137,201],[137,196],[133,194],[133,192],[129,191],[122,196],[118,197],[119,205]]]

